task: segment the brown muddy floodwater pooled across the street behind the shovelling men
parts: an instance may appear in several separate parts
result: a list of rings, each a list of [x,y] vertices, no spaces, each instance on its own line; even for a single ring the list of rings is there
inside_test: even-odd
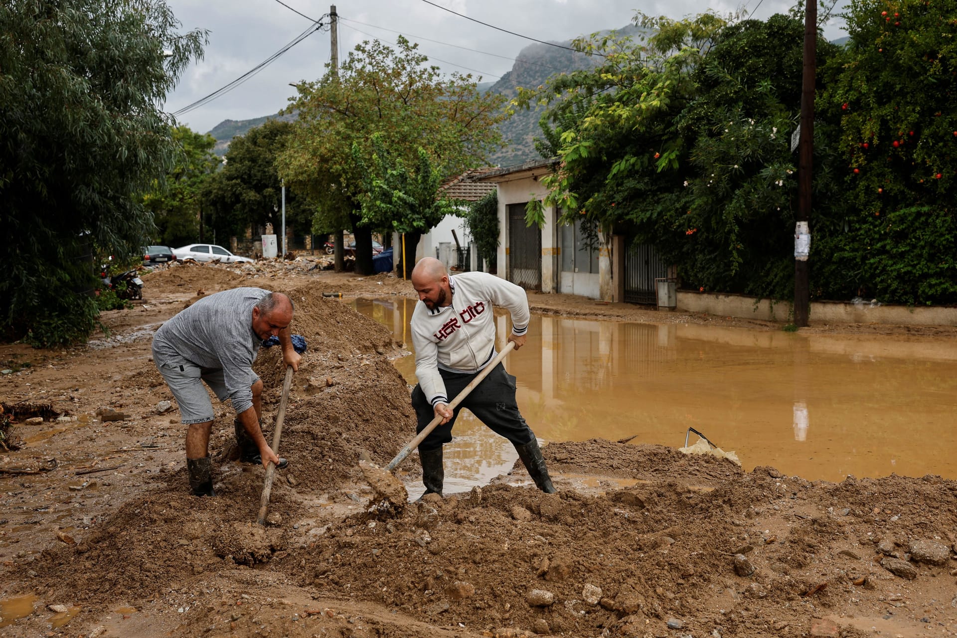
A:
[[[410,350],[414,303],[353,302]],[[510,323],[504,315],[498,322],[501,349]],[[414,383],[413,357],[396,367]],[[951,340],[533,315],[525,347],[506,367],[518,377],[525,419],[546,442],[635,436],[635,443],[681,447],[692,428],[736,451],[746,470],[770,465],[833,481],[957,478]],[[517,457],[464,412],[454,434],[446,446],[450,491],[484,482]],[[691,434],[689,443],[696,440]]]

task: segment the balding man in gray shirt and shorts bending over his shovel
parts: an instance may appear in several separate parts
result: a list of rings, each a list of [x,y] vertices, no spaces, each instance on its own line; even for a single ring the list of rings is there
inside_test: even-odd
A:
[[[160,326],[153,337],[153,363],[166,379],[187,426],[186,464],[193,495],[215,496],[209,453],[212,429],[210,393],[229,399],[236,411],[234,430],[240,460],[286,467],[266,443],[262,418],[262,381],[253,362],[262,341],[277,336],[282,360],[299,368],[289,324],[293,302],[261,288],[234,288],[203,297]]]

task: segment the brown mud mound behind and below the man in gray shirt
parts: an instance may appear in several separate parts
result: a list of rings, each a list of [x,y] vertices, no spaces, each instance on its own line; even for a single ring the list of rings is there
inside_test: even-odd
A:
[[[196,267],[180,267],[179,272],[189,268]],[[322,297],[317,287],[284,292],[297,304],[292,330],[305,338],[308,349],[290,391],[279,451],[291,463],[274,482],[273,520],[301,517],[303,498],[315,501],[324,492],[361,481],[360,457],[384,465],[415,430],[408,386],[389,363],[389,356],[401,352],[389,331],[342,302]],[[263,403],[276,407],[284,375],[279,348],[262,348],[255,369],[265,385]],[[138,374],[146,385],[162,384],[152,368]],[[269,407],[264,411],[263,429],[271,441],[274,416]],[[165,474],[163,488],[127,502],[107,523],[78,535],[76,546],[46,552],[33,570],[49,577],[48,586],[57,595],[98,608],[108,600],[155,598],[185,576],[269,561],[286,549],[282,529],[263,532],[251,523],[264,473],[261,466],[223,458],[233,416],[231,410],[225,412],[226,423],[213,425],[219,434],[211,442],[218,498],[189,496],[180,466]]]

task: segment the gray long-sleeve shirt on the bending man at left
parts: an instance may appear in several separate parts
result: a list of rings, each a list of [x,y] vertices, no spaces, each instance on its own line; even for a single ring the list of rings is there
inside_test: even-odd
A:
[[[236,413],[253,406],[253,362],[262,343],[253,332],[253,307],[269,294],[234,288],[203,297],[160,326],[153,337],[156,363],[178,358],[202,368],[222,369]]]

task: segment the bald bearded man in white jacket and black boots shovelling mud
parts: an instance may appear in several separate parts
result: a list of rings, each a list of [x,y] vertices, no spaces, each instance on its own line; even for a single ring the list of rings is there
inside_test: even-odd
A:
[[[494,306],[508,310],[512,331],[508,341],[518,350],[528,329],[528,299],[514,283],[487,273],[450,276],[438,259],[426,257],[412,270],[412,286],[419,300],[412,313],[415,375],[412,407],[417,431],[434,417],[442,421],[419,444],[425,494],[442,494],[445,472],[442,446],[452,440],[458,411],[469,408],[488,428],[508,439],[519,458],[545,493],[553,494],[551,477],[535,434],[525,423],[515,401],[515,377],[499,363],[454,410],[449,402],[496,357]]]

